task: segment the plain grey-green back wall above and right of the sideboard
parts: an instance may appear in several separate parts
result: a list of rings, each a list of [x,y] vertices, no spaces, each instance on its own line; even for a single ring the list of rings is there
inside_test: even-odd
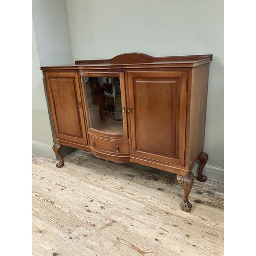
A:
[[[71,61],[213,54],[205,152],[223,167],[223,0],[63,0]]]

